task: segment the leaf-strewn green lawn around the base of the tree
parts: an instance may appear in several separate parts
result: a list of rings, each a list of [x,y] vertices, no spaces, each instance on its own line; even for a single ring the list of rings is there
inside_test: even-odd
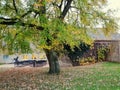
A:
[[[0,72],[0,90],[120,90],[120,64],[67,67],[60,75],[48,68],[14,68]]]

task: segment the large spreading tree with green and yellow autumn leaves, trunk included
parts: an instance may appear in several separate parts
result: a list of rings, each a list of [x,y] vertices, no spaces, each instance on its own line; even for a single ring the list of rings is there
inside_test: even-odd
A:
[[[101,25],[104,33],[117,29],[111,14],[103,12],[106,0],[0,0],[1,48],[30,52],[29,44],[42,48],[49,73],[59,73],[58,56],[64,45],[90,44],[89,32]]]

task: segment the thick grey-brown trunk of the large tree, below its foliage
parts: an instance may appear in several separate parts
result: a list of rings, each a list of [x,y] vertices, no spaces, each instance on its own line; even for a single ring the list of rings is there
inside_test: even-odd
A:
[[[58,62],[58,55],[54,50],[45,50],[48,62],[49,62],[49,73],[50,74],[59,74],[60,65]]]

